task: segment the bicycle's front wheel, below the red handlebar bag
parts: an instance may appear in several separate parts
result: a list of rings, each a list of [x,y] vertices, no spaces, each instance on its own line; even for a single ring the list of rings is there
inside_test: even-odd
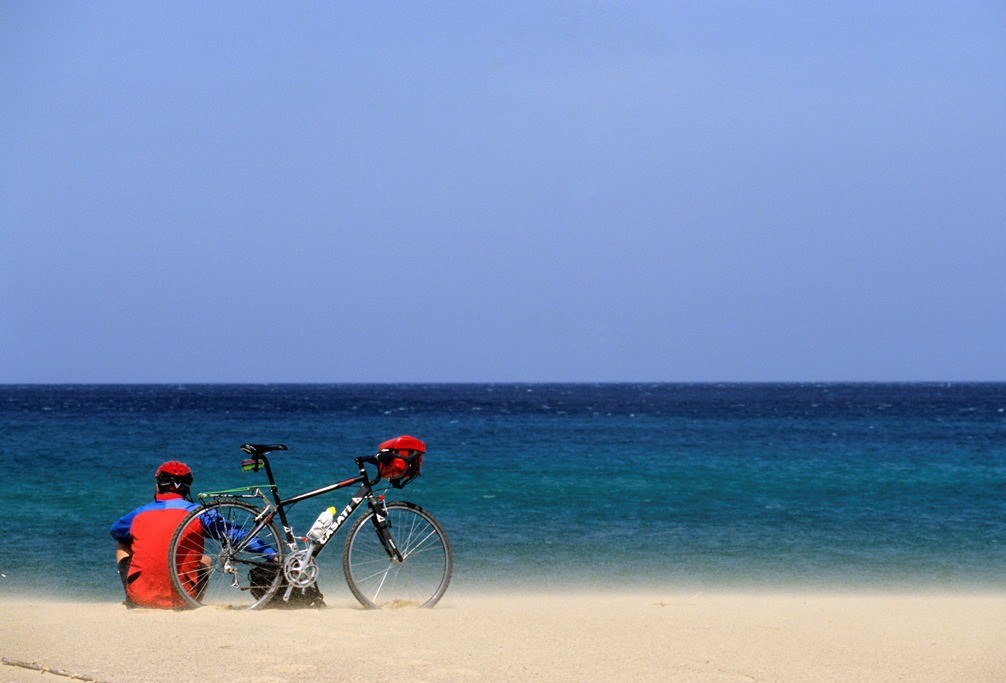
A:
[[[381,538],[387,533],[401,553],[398,561]],[[356,600],[370,610],[383,607],[432,608],[451,582],[454,555],[444,527],[412,503],[387,504],[387,527],[371,510],[346,538],[342,568]]]

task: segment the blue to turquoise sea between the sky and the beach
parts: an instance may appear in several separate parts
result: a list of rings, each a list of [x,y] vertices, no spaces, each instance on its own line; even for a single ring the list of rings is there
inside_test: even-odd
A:
[[[117,599],[108,527],[164,460],[229,488],[283,443],[290,495],[399,434],[455,590],[1006,588],[1006,384],[7,385],[0,594]]]

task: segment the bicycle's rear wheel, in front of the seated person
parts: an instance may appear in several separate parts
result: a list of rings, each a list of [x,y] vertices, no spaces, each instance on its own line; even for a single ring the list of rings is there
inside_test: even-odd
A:
[[[283,537],[263,510],[240,501],[210,503],[175,529],[168,551],[171,584],[186,607],[255,610],[283,577]]]

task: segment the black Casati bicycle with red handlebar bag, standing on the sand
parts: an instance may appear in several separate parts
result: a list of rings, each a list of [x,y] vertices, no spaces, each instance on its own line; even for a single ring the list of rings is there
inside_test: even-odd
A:
[[[256,610],[281,588],[283,601],[288,602],[294,590],[303,592],[316,584],[315,558],[366,503],[365,514],[350,528],[343,545],[342,567],[350,591],[366,609],[434,607],[447,590],[454,564],[444,528],[418,505],[388,502],[383,493],[374,491],[382,479],[401,489],[418,476],[426,451],[423,442],[412,437],[384,442],[376,456],[354,459],[357,476],[284,499],[267,456],[286,450],[282,444],[241,446],[250,456],[241,461],[242,471],[265,470],[268,486],[199,494],[202,506],[175,529],[169,573],[185,606]],[[374,478],[367,465],[377,467]],[[355,484],[359,489],[338,515],[329,508],[330,514],[322,513],[307,536],[294,535],[287,521],[290,507]],[[272,500],[263,488],[271,492]]]

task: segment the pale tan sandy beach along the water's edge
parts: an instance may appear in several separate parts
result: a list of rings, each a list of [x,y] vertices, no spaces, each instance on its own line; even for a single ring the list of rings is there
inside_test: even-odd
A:
[[[0,656],[102,681],[1004,681],[1006,593],[452,595],[434,610],[0,602]],[[3,681],[69,681],[9,665]]]

